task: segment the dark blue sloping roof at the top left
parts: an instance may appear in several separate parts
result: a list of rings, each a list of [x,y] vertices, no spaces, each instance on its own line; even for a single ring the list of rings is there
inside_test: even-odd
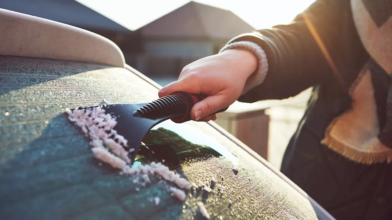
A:
[[[130,31],[75,0],[3,0],[0,8],[81,28]]]

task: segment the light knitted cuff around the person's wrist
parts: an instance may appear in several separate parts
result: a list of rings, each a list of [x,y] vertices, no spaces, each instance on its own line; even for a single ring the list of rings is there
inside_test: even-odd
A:
[[[260,85],[263,83],[265,76],[267,76],[268,72],[268,62],[267,62],[267,55],[265,54],[264,50],[257,44],[250,41],[238,41],[234,43],[230,43],[223,47],[219,52],[223,52],[229,49],[246,49],[253,52],[257,59],[259,60],[258,69],[248,78],[245,83],[245,87],[242,91],[242,94],[247,93],[252,88]]]

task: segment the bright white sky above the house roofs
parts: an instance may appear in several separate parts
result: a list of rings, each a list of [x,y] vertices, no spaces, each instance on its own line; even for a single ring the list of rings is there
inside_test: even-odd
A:
[[[134,31],[189,0],[76,0]],[[314,0],[194,0],[230,10],[255,29],[287,24]]]

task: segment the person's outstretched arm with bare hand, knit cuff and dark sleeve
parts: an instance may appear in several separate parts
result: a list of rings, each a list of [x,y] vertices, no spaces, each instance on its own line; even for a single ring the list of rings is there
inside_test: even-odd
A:
[[[245,41],[250,42],[250,49],[246,45],[229,49],[233,42]],[[203,94],[206,98],[192,107],[191,117],[209,121],[216,119],[213,112],[236,100],[285,99],[321,83],[333,85],[328,89],[344,87],[347,92],[356,77],[350,75],[356,71],[345,70],[358,68],[367,59],[354,26],[350,0],[318,0],[291,24],[240,35],[225,48],[185,66],[178,80],[163,87],[158,95],[175,91]],[[341,87],[336,87],[337,83]]]

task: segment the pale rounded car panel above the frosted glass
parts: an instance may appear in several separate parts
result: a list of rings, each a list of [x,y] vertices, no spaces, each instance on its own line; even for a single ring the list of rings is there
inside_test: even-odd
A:
[[[112,41],[71,25],[0,8],[0,54],[124,67]]]

